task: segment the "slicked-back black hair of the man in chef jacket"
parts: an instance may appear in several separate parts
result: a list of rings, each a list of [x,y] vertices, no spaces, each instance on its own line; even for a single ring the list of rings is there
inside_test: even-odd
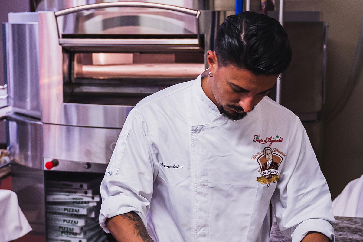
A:
[[[255,75],[278,75],[291,62],[291,47],[281,24],[266,15],[243,12],[228,16],[215,41],[219,65],[232,64]]]

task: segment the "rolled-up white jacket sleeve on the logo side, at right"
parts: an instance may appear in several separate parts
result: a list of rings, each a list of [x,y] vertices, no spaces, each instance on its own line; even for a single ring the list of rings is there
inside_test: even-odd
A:
[[[300,242],[309,231],[335,241],[329,188],[299,120],[291,134],[289,152],[272,197],[280,231],[292,242]]]

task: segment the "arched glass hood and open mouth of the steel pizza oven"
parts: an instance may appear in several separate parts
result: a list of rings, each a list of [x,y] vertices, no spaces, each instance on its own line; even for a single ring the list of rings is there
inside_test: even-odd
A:
[[[123,2],[55,15],[66,103],[132,106],[204,70],[199,11]]]

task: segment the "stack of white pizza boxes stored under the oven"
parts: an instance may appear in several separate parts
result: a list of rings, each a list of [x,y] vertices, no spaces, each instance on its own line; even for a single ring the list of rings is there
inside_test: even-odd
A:
[[[47,182],[48,242],[106,241],[98,223],[101,180]]]

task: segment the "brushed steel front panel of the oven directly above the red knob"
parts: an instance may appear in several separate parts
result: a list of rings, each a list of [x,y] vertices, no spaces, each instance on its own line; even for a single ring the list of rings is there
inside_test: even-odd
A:
[[[97,115],[93,117],[105,118]],[[44,124],[44,157],[108,164],[121,129]],[[42,166],[43,167],[43,166]],[[67,171],[72,171],[68,167]]]

